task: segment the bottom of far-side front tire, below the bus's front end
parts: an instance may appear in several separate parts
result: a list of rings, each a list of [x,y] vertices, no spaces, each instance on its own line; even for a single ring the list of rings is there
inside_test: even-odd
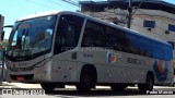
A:
[[[47,91],[47,93],[50,93],[55,89],[56,87],[56,84],[52,84],[52,83],[42,83],[40,84],[42,88]]]

